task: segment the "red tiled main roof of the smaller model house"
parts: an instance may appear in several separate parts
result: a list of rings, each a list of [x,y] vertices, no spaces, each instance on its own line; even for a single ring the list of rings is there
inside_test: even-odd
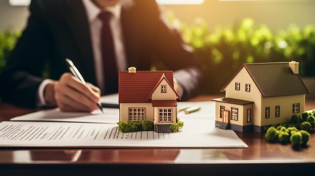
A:
[[[150,103],[148,97],[163,74],[174,88],[173,71],[136,71],[136,73],[119,71],[118,102]]]

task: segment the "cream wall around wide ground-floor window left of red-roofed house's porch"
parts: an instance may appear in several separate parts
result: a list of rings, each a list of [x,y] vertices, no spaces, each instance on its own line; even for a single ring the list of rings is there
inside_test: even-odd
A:
[[[153,122],[153,106],[151,103],[120,103],[120,121],[129,121],[129,108],[144,108],[144,119]]]

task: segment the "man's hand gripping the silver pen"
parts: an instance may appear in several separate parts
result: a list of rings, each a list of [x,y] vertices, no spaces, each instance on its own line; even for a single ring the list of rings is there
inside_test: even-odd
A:
[[[100,95],[99,88],[83,84],[70,73],[64,73],[59,81],[49,83],[44,90],[45,101],[61,111],[94,111],[98,109]]]

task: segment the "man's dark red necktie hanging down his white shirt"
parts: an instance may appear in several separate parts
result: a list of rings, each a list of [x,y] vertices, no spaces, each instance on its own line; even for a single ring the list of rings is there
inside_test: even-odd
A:
[[[101,49],[103,59],[103,73],[105,77],[105,90],[102,94],[111,94],[118,91],[118,70],[115,56],[112,31],[109,22],[113,15],[110,12],[102,12],[99,19],[102,21]]]

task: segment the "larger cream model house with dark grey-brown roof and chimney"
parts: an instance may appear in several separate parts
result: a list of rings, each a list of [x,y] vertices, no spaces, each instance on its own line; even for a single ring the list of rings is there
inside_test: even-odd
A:
[[[298,75],[298,62],[243,64],[215,101],[215,126],[262,132],[263,127],[289,122],[304,112],[310,92]]]

